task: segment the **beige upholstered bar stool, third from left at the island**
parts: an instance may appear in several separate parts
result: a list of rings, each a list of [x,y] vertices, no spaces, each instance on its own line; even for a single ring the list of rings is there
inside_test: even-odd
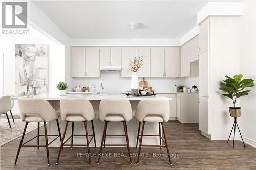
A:
[[[100,154],[102,152],[102,147],[104,146],[127,146],[130,164],[132,164],[132,158],[130,156],[129,138],[127,131],[127,121],[133,118],[132,107],[127,99],[103,99],[100,101],[99,105],[99,119],[105,122],[102,140],[99,150],[98,162],[100,160]],[[108,127],[108,122],[123,122],[123,128],[125,135],[114,135],[106,134],[106,129]],[[125,136],[126,144],[105,144],[106,136]]]

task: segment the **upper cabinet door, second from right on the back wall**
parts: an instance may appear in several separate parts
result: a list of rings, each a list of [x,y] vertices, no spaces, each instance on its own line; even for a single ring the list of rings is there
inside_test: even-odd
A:
[[[164,77],[164,48],[152,48],[150,54],[151,77]]]

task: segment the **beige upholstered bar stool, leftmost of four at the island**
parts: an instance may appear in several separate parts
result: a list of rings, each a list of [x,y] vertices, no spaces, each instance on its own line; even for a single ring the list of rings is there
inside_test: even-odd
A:
[[[53,107],[43,99],[32,99],[32,98],[20,98],[18,99],[18,107],[19,107],[19,112],[20,112],[20,119],[22,121],[26,121],[25,128],[22,134],[22,139],[20,140],[19,147],[18,147],[18,152],[17,156],[15,159],[14,165],[16,165],[17,160],[18,160],[18,155],[20,152],[20,149],[22,147],[46,147],[46,152],[47,152],[47,163],[50,165],[49,161],[49,148],[48,146],[54,142],[58,137],[61,141],[61,134],[60,134],[60,129],[59,129],[59,122],[58,122],[58,115],[55,113]],[[51,122],[52,120],[56,120],[57,122],[57,127],[59,131],[59,135],[48,135],[47,134],[47,127],[46,127],[46,122]],[[25,136],[25,132],[28,126],[28,123],[30,122],[44,122],[44,128],[45,128],[45,135],[39,135],[33,137],[32,139],[28,140],[27,142],[23,143],[23,139]],[[39,131],[39,130],[38,130]],[[39,137],[40,136],[45,136],[46,144],[45,145],[39,145]],[[54,138],[50,143],[48,143],[48,136],[57,136]],[[26,143],[30,142],[31,140],[37,138],[37,145],[25,145]]]

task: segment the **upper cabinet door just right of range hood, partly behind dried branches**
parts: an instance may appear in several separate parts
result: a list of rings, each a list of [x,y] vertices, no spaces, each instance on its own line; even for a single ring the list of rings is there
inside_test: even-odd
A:
[[[132,77],[129,58],[136,56],[136,48],[122,48],[122,77]]]

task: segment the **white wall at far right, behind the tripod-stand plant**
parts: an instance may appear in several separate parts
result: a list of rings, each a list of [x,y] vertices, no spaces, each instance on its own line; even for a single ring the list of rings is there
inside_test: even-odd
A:
[[[241,74],[256,80],[256,1],[244,2],[244,15],[241,17]],[[256,84],[256,82],[254,82]],[[244,140],[256,147],[256,86],[248,96],[240,98],[242,115],[240,130]]]

